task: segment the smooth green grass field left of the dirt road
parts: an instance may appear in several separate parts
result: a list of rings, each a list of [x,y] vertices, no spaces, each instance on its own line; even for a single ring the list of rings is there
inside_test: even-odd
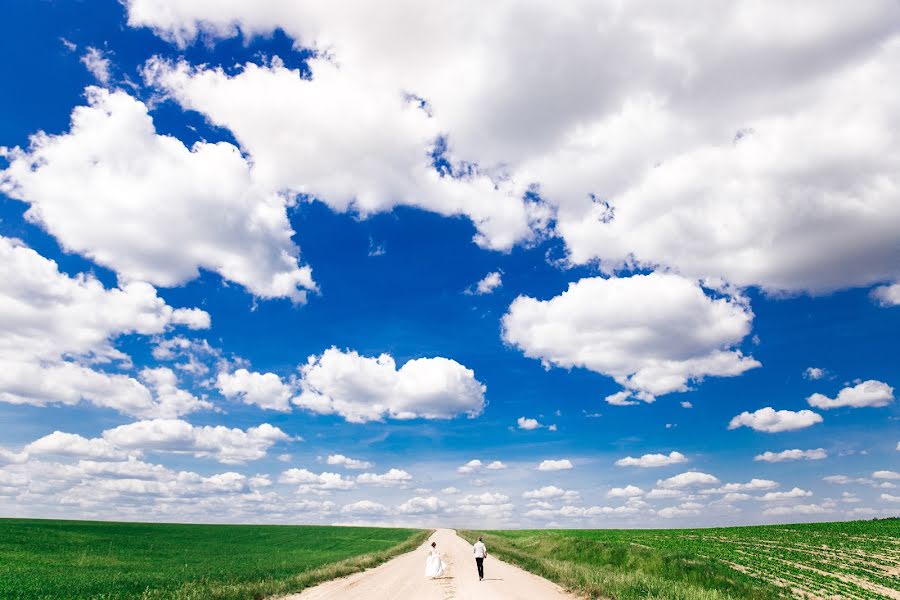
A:
[[[374,566],[428,534],[0,519],[0,598],[265,598]]]

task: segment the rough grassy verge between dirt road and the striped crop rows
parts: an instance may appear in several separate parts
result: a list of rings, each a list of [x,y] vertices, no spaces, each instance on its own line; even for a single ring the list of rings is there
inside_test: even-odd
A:
[[[696,554],[565,531],[459,531],[489,552],[588,598],[773,600],[785,592]]]

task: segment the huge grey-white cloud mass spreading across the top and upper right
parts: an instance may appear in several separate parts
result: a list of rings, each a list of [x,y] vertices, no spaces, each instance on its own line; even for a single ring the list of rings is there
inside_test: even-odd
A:
[[[512,1],[127,7],[131,26],[179,45],[282,30],[322,57],[308,81],[277,64],[233,75],[166,65],[153,80],[234,131],[274,181],[338,206],[424,197],[451,210],[440,186],[422,189],[421,148],[440,131],[479,173],[502,166],[500,199],[470,194],[473,204],[517,215],[507,198],[534,186],[572,262],[665,265],[771,291],[898,278],[900,8],[890,0],[864,11],[697,0],[677,12],[585,0],[565,14],[549,0],[524,11]],[[780,26],[796,21],[813,25],[800,37]],[[398,35],[398,23],[416,26]],[[686,37],[692,27],[714,33]],[[398,107],[411,93],[420,118]],[[339,177],[347,164],[352,176]],[[491,223],[489,239],[527,235],[521,217],[490,216],[504,225]]]

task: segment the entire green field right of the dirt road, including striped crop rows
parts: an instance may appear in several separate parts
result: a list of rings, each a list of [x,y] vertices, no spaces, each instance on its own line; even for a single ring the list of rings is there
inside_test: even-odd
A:
[[[590,598],[900,598],[900,519],[459,533]]]

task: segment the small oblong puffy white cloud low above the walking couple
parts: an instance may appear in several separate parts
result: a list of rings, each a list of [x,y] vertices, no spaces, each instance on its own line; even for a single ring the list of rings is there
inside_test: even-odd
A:
[[[351,423],[393,419],[475,417],[485,386],[455,360],[418,358],[397,368],[388,354],[366,357],[330,348],[300,367],[301,393],[293,402]]]

